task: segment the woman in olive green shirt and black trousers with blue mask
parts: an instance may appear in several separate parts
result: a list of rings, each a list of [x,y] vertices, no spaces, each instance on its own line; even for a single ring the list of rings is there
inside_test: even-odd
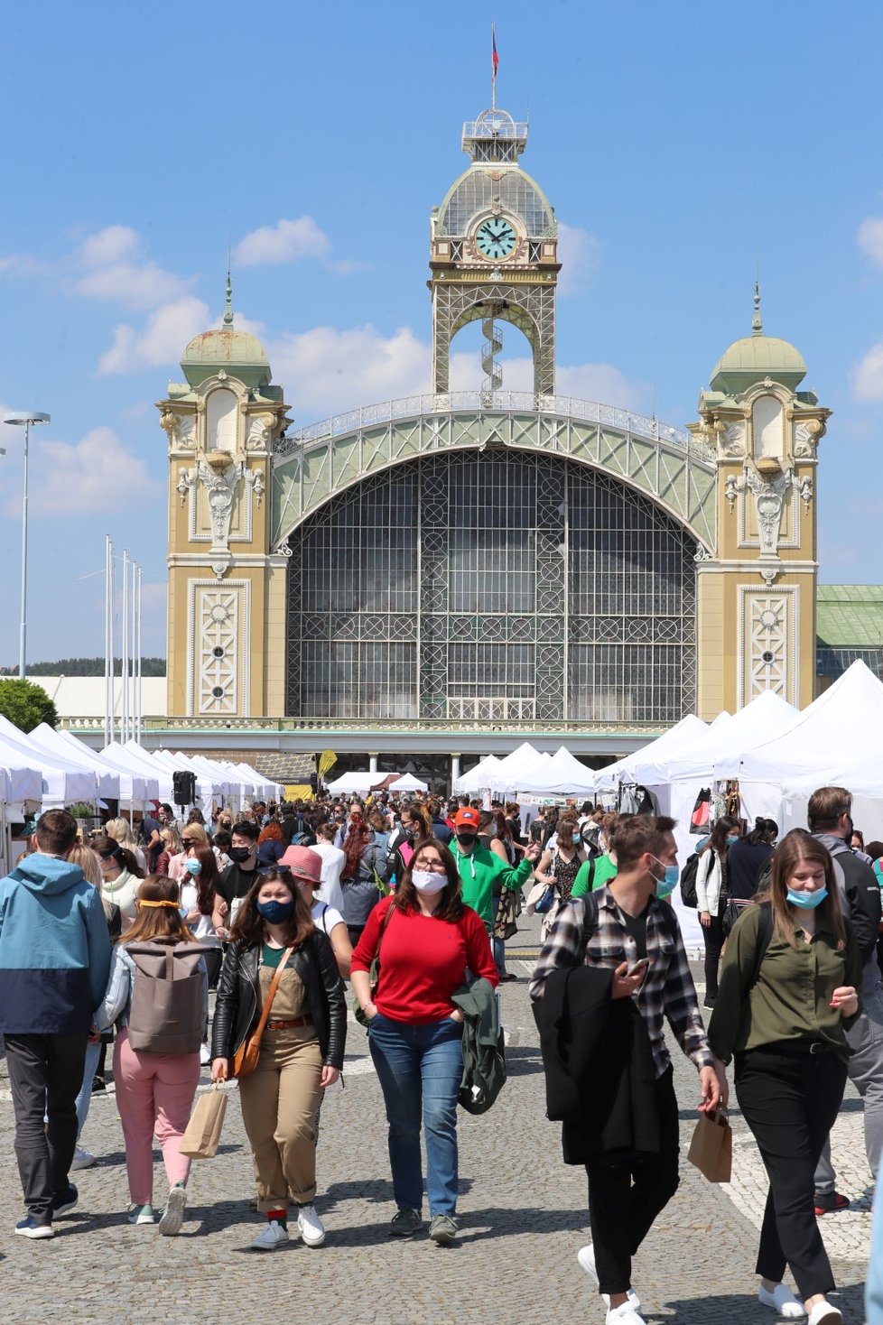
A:
[[[841,1312],[826,1298],[834,1279],[813,1182],[843,1100],[843,1032],[859,1012],[862,963],[831,857],[809,833],[798,829],[780,843],[769,896],[746,906],[729,935],[708,1043],[724,1063],[736,1059],[736,1097],[769,1175],[758,1298],[785,1318],[839,1325]],[[757,970],[766,906],[772,934]],[[786,1264],[803,1304],[782,1284]]]

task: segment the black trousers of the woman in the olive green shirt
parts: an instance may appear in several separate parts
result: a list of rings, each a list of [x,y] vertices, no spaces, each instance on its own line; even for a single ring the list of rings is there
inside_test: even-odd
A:
[[[770,1044],[736,1055],[736,1097],[769,1177],[756,1273],[778,1284],[788,1264],[803,1297],[834,1288],[813,1191],[845,1086],[837,1053]]]

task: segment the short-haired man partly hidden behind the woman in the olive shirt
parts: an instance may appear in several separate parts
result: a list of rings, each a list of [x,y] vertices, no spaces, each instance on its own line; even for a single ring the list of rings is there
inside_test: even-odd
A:
[[[876,1181],[883,1153],[883,988],[876,961],[880,889],[871,865],[850,851],[851,791],[846,787],[819,787],[806,806],[806,822],[813,836],[831,853],[841,908],[862,954],[862,1011],[846,1032],[853,1051],[847,1071],[864,1101],[864,1150]],[[826,1141],[815,1170],[815,1214],[826,1215],[847,1206],[849,1200],[837,1190],[831,1143]]]

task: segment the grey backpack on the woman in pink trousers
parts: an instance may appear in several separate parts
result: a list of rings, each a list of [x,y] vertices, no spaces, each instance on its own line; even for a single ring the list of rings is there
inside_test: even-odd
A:
[[[129,943],[135,979],[129,1043],[139,1053],[198,1053],[203,1043],[206,947],[178,939]]]

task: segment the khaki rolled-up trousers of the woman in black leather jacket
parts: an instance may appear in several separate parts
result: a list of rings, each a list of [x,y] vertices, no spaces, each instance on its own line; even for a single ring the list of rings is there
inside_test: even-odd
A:
[[[252,1146],[257,1208],[288,1210],[316,1196],[316,1109],[322,1053],[312,1026],[264,1031],[251,1076],[239,1083],[243,1122]]]

